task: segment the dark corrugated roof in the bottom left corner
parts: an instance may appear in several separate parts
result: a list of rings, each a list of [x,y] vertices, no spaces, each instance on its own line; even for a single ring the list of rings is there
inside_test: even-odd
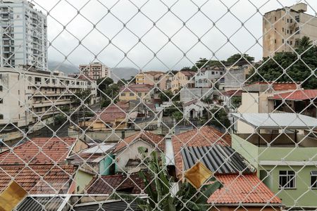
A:
[[[63,203],[63,197],[30,197],[15,208],[14,211],[56,211]]]

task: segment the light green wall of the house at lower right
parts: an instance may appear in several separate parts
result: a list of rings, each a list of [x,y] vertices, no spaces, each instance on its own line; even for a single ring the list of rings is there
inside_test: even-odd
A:
[[[311,170],[316,171],[316,166],[259,166],[260,160],[280,161],[281,158],[285,158],[286,161],[308,161],[310,158],[312,160],[317,160],[317,148],[257,147],[235,134],[232,134],[232,148],[257,168],[258,177],[260,177],[273,193],[277,194],[277,196],[282,199],[283,204],[289,207],[317,207],[317,189],[309,189],[311,182],[310,172]],[[272,172],[268,177],[264,178],[266,176],[265,172],[261,172],[261,170]],[[278,188],[280,170],[294,170],[295,172],[298,172],[296,177],[296,188],[285,190],[280,190]]]

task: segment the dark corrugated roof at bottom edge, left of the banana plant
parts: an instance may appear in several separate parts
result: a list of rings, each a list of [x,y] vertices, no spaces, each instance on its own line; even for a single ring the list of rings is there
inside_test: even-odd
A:
[[[123,200],[113,202],[88,203],[87,205],[75,205],[75,211],[139,211],[136,203],[126,203]]]

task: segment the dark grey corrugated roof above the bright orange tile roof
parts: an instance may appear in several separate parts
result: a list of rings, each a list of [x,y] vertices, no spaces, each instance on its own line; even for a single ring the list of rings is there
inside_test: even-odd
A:
[[[239,153],[230,146],[199,146],[182,148],[182,160],[185,170],[192,167],[198,160],[204,163],[213,173],[239,174],[255,172]]]

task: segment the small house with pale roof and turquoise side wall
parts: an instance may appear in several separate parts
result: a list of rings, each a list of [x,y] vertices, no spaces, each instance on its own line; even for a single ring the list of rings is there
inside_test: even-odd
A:
[[[92,174],[109,175],[114,174],[113,143],[96,143],[89,148],[70,155],[67,160],[71,165],[78,166]]]

